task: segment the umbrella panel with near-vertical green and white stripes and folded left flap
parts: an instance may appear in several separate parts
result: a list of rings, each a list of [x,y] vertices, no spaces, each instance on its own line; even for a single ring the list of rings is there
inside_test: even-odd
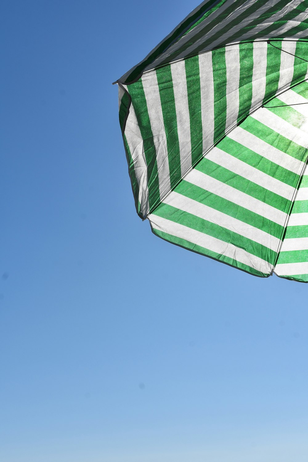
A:
[[[294,53],[303,55],[302,45],[234,45],[119,85],[120,122],[143,219],[230,129],[277,92],[306,78],[307,62],[294,58]]]

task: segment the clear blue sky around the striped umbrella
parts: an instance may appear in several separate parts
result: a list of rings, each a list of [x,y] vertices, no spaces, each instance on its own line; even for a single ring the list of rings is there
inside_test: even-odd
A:
[[[111,82],[196,5],[2,0],[3,462],[307,462],[308,286],[134,209]]]

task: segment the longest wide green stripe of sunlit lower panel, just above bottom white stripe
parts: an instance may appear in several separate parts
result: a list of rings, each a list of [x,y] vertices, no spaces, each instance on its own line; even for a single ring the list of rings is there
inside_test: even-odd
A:
[[[264,261],[269,261],[271,264],[274,263],[276,252],[273,250],[268,249],[264,245],[252,241],[247,237],[241,236],[234,231],[230,231],[223,226],[216,225],[216,223],[211,223],[211,221],[197,217],[192,213],[184,212],[183,210],[172,207],[168,204],[161,204],[157,207],[154,214],[180,225],[187,226],[193,230],[202,232],[205,235],[216,237],[216,239],[246,250],[249,254],[256,255]]]

